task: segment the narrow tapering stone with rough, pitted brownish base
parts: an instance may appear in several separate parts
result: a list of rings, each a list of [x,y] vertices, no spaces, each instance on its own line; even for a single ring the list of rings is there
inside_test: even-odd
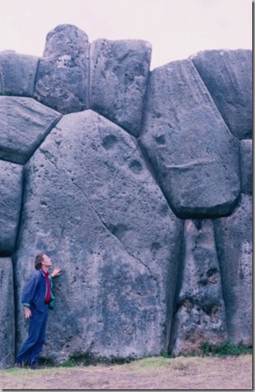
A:
[[[171,337],[174,355],[199,352],[204,341],[220,344],[227,339],[225,304],[211,220],[186,220],[183,242],[184,261]]]

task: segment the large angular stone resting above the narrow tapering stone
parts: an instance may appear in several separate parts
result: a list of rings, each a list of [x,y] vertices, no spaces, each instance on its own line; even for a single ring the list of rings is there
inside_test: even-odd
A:
[[[152,71],[140,143],[176,215],[231,213],[240,193],[238,139],[191,60]]]

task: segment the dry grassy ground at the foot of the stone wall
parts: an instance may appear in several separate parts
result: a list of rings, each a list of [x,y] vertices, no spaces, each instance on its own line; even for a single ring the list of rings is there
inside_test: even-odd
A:
[[[113,366],[75,366],[0,371],[2,390],[15,389],[251,389],[252,355],[153,357]]]

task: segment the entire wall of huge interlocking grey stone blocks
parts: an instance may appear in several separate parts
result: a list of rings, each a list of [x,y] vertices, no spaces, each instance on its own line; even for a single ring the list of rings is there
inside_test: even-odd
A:
[[[55,364],[252,345],[252,51],[150,60],[72,25],[0,53],[1,368],[38,251],[63,269]]]

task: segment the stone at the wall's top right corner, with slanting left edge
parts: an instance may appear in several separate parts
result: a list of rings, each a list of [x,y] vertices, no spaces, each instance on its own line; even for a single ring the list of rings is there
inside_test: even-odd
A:
[[[191,56],[229,130],[252,138],[252,51],[204,51]]]

